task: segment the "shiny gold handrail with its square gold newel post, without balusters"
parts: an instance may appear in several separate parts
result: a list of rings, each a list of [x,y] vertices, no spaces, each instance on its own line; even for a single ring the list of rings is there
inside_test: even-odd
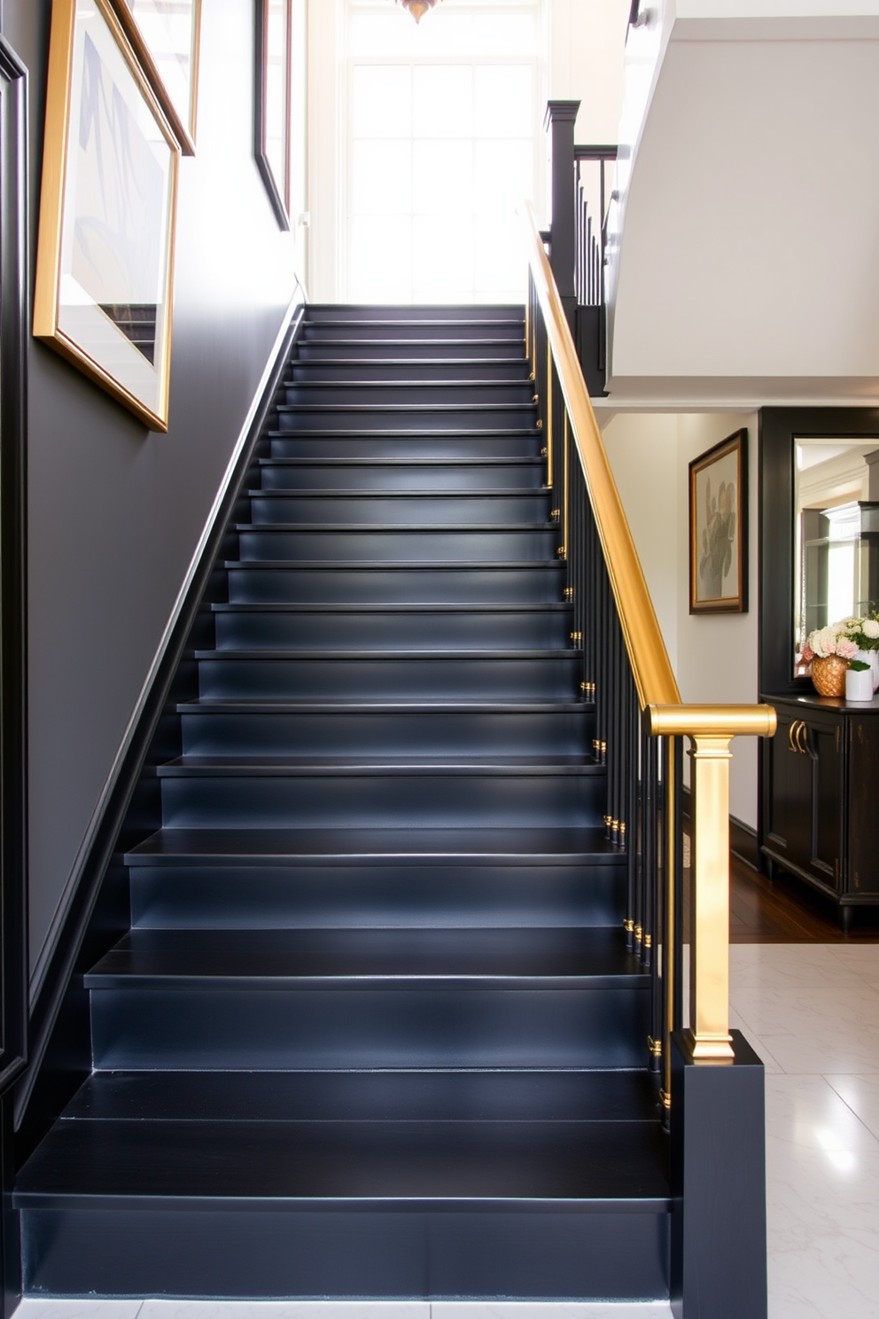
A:
[[[691,739],[693,857],[691,885],[691,1029],[689,1049],[697,1062],[733,1058],[729,1034],[729,744],[733,737],[771,737],[776,727],[771,706],[685,706],[680,699],[666,642],[647,590],[635,542],[623,512],[605,451],[571,327],[556,289],[540,231],[530,202],[521,216],[528,264],[547,332],[548,351],[565,402],[571,434],[592,503],[596,529],[617,605],[629,663],[647,732],[654,737]],[[534,326],[528,322],[528,353]],[[536,363],[532,363],[536,367]],[[550,383],[550,394],[552,384]],[[568,495],[565,491],[565,503]],[[673,747],[671,751],[673,756]],[[671,761],[669,761],[671,764]],[[669,783],[673,790],[673,783]],[[666,873],[675,874],[673,831],[668,831]],[[667,893],[668,930],[673,927],[673,893]],[[671,983],[666,950],[663,975]],[[671,995],[669,995],[671,1001]],[[669,1091],[671,1013],[666,1024],[666,1089]]]

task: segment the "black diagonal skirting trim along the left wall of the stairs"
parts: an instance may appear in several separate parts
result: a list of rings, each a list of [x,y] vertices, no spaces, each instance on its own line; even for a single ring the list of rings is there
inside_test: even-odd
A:
[[[58,913],[34,967],[30,1063],[16,1091],[16,1130],[22,1126],[41,1064],[62,1012],[67,987],[76,969],[90,919],[111,865],[116,840],[138,785],[141,769],[162,718],[186,642],[195,625],[227,524],[240,497],[241,483],[246,475],[253,447],[273,405],[290,350],[299,335],[303,315],[304,307],[294,298],[283,314],[266,368],[257,385],[167,625],[76,853]]]

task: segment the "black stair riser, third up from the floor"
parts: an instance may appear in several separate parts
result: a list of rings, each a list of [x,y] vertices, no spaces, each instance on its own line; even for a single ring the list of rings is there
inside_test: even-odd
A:
[[[618,927],[622,864],[133,867],[141,930]]]

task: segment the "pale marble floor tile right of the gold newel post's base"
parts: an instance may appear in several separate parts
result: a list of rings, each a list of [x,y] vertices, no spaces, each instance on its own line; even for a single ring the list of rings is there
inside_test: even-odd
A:
[[[738,989],[733,1002],[785,1072],[879,1072],[879,989]]]

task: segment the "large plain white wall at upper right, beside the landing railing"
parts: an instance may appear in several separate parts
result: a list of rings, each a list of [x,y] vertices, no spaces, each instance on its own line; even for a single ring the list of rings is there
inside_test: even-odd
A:
[[[879,398],[878,12],[666,0],[630,41],[615,402]]]

